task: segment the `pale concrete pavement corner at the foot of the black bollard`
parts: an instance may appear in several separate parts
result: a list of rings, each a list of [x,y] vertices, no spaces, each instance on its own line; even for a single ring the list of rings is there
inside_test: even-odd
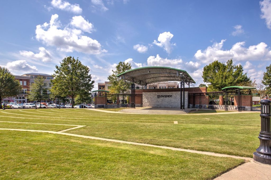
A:
[[[215,178],[219,180],[248,180],[248,179],[261,179],[270,180],[271,165],[256,162],[253,159],[237,168],[232,169],[225,174]]]

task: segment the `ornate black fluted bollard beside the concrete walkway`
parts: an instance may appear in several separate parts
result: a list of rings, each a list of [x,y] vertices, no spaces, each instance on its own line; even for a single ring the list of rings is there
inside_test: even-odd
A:
[[[261,131],[259,134],[260,146],[253,152],[255,161],[271,165],[271,122],[270,105],[271,101],[264,99],[261,104]]]

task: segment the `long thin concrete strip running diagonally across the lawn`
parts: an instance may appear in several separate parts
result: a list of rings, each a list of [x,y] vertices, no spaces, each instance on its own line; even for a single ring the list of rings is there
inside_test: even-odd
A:
[[[120,141],[120,140],[114,140],[114,139],[98,138],[98,137],[92,137],[92,136],[70,134],[70,133],[62,133],[62,132],[55,132],[55,131],[27,130],[27,129],[6,129],[6,128],[0,128],[0,130],[30,131],[30,132],[42,132],[42,133],[62,134],[62,135],[69,135],[69,136],[82,137],[82,138],[88,138],[88,139],[110,141],[110,142],[119,142],[119,143],[134,144],[134,145],[141,145],[141,146],[149,146],[149,147],[163,148],[163,149],[169,149],[169,150],[174,150],[174,151],[185,151],[185,152],[191,152],[191,153],[197,153],[197,154],[205,154],[205,155],[218,156],[218,157],[231,157],[231,158],[236,158],[236,159],[244,159],[246,161],[250,161],[252,159],[252,158],[240,157],[240,156],[233,156],[233,155],[227,155],[227,154],[218,154],[218,153],[214,153],[214,152],[188,150],[188,149],[182,149],[182,148],[173,148],[173,147],[167,147],[167,146],[158,146],[158,145],[144,144],[144,143],[130,142],[130,141]]]

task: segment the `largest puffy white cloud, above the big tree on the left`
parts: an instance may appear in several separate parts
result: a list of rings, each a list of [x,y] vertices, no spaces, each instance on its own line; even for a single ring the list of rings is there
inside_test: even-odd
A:
[[[36,39],[49,46],[56,46],[64,52],[78,51],[86,54],[98,55],[107,50],[102,49],[101,44],[88,36],[82,35],[82,30],[65,27],[60,29],[58,15],[51,16],[50,23],[36,26]]]

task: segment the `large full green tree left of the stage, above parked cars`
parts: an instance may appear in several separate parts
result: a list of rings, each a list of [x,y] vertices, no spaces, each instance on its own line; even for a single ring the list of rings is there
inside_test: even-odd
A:
[[[72,108],[76,96],[90,92],[94,87],[89,68],[72,56],[65,57],[60,66],[56,66],[53,77],[52,91],[57,91],[59,96],[69,95],[72,98]]]

